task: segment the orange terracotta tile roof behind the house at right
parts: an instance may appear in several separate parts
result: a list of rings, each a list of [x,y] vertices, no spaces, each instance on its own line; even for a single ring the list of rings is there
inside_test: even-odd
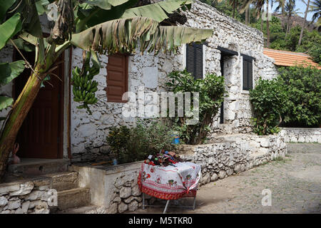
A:
[[[270,48],[264,48],[263,53],[265,56],[274,58],[274,64],[277,66],[295,66],[296,64],[302,64],[303,66],[311,65],[321,69],[321,66],[313,62],[311,57],[305,53],[280,51]]]

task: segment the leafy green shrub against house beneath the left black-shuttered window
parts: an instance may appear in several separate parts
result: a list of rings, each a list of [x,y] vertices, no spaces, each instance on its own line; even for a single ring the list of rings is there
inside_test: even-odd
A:
[[[210,130],[213,118],[218,113],[220,104],[225,95],[224,77],[207,74],[204,79],[195,79],[186,70],[173,71],[167,86],[173,93],[197,92],[199,93],[199,117],[198,123],[188,125],[193,119],[184,113],[183,117],[173,118],[175,129],[180,133],[180,139],[188,144],[203,142]],[[190,108],[193,110],[194,95],[190,95]]]

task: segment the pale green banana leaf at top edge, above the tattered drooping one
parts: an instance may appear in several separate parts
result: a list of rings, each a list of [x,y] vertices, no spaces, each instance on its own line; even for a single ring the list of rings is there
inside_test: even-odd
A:
[[[161,1],[156,4],[126,9],[121,18],[128,19],[135,16],[144,16],[161,22],[168,18],[168,14],[173,14],[177,9],[180,9],[183,6],[190,6],[191,4],[192,0]]]

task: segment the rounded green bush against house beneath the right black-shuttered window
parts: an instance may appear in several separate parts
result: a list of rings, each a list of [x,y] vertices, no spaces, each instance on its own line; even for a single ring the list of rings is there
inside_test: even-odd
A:
[[[281,114],[287,103],[287,93],[280,78],[263,80],[260,78],[250,90],[253,106],[253,131],[258,135],[270,135],[279,131]]]

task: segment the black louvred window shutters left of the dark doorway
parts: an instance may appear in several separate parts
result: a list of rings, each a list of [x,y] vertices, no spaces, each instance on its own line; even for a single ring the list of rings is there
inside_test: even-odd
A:
[[[203,44],[186,45],[186,70],[194,78],[203,79]]]

